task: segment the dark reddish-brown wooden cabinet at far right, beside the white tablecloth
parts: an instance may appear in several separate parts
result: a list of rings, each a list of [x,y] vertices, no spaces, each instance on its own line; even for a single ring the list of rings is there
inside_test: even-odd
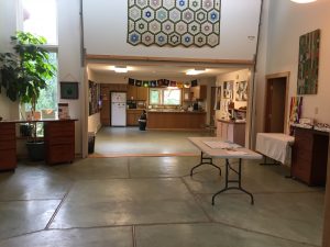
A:
[[[295,127],[292,176],[309,186],[324,186],[329,134]]]

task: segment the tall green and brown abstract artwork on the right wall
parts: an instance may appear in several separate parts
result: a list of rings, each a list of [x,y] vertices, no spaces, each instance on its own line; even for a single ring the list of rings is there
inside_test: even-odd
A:
[[[299,38],[297,94],[316,94],[319,75],[320,30]]]

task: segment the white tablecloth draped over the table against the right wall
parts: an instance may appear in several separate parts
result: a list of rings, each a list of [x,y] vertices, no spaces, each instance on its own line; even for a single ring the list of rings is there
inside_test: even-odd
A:
[[[295,137],[283,133],[257,133],[255,149],[282,164],[290,165]]]

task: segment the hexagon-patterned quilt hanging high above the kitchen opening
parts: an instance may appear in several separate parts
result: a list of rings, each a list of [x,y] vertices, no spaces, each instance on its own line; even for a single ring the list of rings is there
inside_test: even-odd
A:
[[[221,0],[128,0],[128,43],[210,46],[220,43]]]

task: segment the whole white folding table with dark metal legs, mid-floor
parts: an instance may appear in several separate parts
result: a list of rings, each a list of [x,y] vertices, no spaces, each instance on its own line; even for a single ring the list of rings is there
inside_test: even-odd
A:
[[[217,165],[213,164],[212,158],[223,158],[226,159],[226,183],[224,188],[212,195],[212,205],[215,205],[215,199],[218,194],[227,191],[227,190],[241,190],[244,193],[249,194],[251,198],[251,204],[254,204],[253,194],[242,188],[242,159],[262,159],[262,155],[252,151],[248,148],[240,147],[237,144],[231,144],[228,142],[223,142],[217,137],[188,137],[188,139],[201,150],[200,162],[193,167],[190,170],[190,176],[194,175],[194,170],[201,165],[211,165],[220,170],[221,169]],[[204,155],[207,155],[205,157]],[[229,159],[239,159],[239,168],[234,169]],[[233,171],[238,175],[238,179],[230,180],[229,171]],[[231,186],[232,183],[237,186]]]

